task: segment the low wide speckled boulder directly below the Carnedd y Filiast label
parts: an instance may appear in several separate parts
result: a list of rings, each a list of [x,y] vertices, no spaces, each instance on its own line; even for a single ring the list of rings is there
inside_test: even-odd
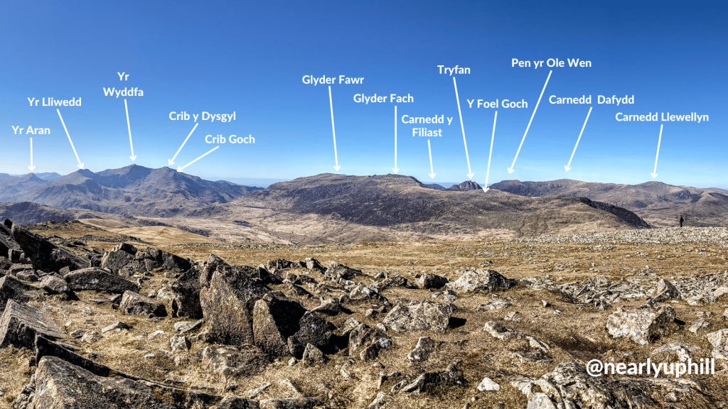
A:
[[[383,322],[397,332],[408,330],[445,332],[450,317],[450,306],[425,300],[410,303],[409,306],[397,304],[392,311],[389,311],[387,317],[384,317]]]

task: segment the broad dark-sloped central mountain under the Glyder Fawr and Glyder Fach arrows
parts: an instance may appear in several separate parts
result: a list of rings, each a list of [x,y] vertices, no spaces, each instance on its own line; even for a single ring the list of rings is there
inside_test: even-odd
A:
[[[533,236],[647,226],[627,210],[608,208],[569,195],[526,198],[502,191],[486,194],[479,186],[435,190],[403,175],[324,174],[275,183],[189,217],[244,220],[298,243],[476,239],[486,231]],[[284,230],[290,234],[281,236]]]

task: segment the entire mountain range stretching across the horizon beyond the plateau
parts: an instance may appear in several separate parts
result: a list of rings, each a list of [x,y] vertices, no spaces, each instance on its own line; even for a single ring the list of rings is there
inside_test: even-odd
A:
[[[728,191],[658,182],[505,180],[483,192],[470,180],[446,189],[405,175],[323,174],[257,188],[138,165],[46,179],[0,175],[0,202],[9,202],[0,213],[19,223],[115,215],[221,241],[298,244],[644,229],[674,226],[679,215],[724,226],[728,214]]]

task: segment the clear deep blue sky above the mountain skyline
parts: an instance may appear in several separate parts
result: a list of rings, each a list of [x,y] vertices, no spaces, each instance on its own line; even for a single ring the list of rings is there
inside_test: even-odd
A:
[[[203,178],[288,180],[335,172],[326,85],[314,77],[363,77],[333,84],[336,150],[347,175],[397,167],[423,182],[484,183],[492,108],[499,108],[488,183],[572,178],[611,183],[656,180],[728,188],[725,1],[0,1],[0,172],[78,170],[56,108],[27,98],[70,100],[58,108],[79,159],[92,171],[167,166],[194,127],[170,112],[232,114],[199,125],[173,167]],[[513,58],[530,68],[512,66]],[[588,60],[590,68],[534,68],[534,60]],[[438,65],[470,68],[440,74]],[[539,108],[523,143],[550,69]],[[117,73],[129,74],[120,81]],[[337,81],[338,82],[338,81]],[[104,88],[137,88],[124,97]],[[412,103],[356,103],[356,94],[411,95]],[[591,95],[591,104],[552,104],[551,95]],[[632,97],[624,106],[598,95]],[[469,108],[467,100],[476,100]],[[564,165],[586,124],[571,170]],[[708,115],[708,122],[617,122],[623,114]],[[402,116],[451,117],[429,125],[442,136],[413,137]],[[447,122],[447,119],[445,119]],[[13,127],[22,127],[23,135]],[[50,135],[28,135],[28,127]],[[253,135],[255,144],[206,143],[206,135]],[[432,147],[432,166],[427,140]]]

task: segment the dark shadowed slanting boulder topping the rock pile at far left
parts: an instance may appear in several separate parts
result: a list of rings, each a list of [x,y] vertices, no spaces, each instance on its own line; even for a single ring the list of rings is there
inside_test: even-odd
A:
[[[23,253],[31,259],[33,267],[42,271],[59,271],[68,267],[71,271],[84,269],[90,265],[87,258],[59,247],[50,240],[31,233],[17,224],[12,225],[12,235]]]

